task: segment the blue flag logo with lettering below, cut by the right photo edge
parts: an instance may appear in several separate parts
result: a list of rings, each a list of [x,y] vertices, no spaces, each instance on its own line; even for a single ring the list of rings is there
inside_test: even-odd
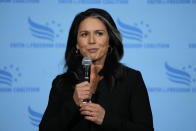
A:
[[[167,87],[152,87],[151,92],[196,93],[196,68],[191,65],[176,68],[164,63],[165,76],[169,83]]]

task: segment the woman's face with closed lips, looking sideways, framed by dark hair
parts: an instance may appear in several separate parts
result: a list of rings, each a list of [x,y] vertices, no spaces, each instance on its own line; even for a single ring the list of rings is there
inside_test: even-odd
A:
[[[83,57],[93,61],[104,62],[109,47],[109,36],[106,26],[98,18],[87,17],[78,28],[76,48]]]

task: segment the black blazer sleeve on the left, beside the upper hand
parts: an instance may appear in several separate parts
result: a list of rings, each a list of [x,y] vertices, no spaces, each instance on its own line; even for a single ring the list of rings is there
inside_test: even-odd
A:
[[[79,107],[73,100],[71,87],[64,86],[71,85],[65,84],[61,76],[53,80],[48,105],[39,124],[39,131],[69,130],[72,126],[74,118],[79,113]]]

